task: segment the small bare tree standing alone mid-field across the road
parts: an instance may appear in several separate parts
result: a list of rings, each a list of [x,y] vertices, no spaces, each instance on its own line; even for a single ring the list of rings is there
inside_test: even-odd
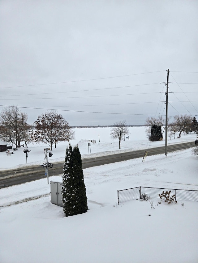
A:
[[[114,140],[119,140],[119,149],[121,141],[123,140],[124,135],[130,134],[129,129],[126,127],[126,121],[118,121],[114,123],[113,128],[111,128],[110,136]]]

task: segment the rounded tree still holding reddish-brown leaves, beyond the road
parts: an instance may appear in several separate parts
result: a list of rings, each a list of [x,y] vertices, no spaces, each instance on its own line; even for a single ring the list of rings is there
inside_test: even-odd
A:
[[[56,111],[45,112],[34,122],[35,129],[30,133],[33,142],[44,142],[52,150],[53,144],[66,140],[68,122]]]

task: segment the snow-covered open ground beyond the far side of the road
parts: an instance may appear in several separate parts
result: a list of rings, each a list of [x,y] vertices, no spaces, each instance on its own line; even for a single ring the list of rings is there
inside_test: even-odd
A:
[[[107,154],[114,154],[120,152],[126,152],[131,150],[141,150],[165,146],[165,141],[158,142],[149,142],[146,138],[145,129],[146,127],[128,127],[130,134],[129,140],[127,135],[125,140],[121,142],[121,149],[119,149],[118,141],[112,140],[110,138],[111,128],[82,128],[74,129],[75,131],[75,140],[71,141],[71,145],[78,144],[82,158],[91,158],[95,156],[103,156]],[[164,134],[165,136],[165,134]],[[177,134],[174,137],[168,138],[168,144],[183,143],[189,141],[195,141],[196,134],[182,134],[181,138],[177,138]],[[99,142],[100,138],[100,142]],[[88,148],[89,140],[95,140],[96,143],[91,142],[91,153],[90,148]],[[21,145],[24,142],[21,142]],[[53,145],[53,150],[50,151],[53,153],[53,156],[48,158],[49,162],[63,162],[65,159],[65,150],[68,146],[67,142],[57,143],[56,149]],[[49,145],[44,143],[28,143],[28,150],[31,152],[28,153],[27,164],[26,164],[26,155],[23,150],[25,147],[18,148],[17,151],[14,151],[14,154],[9,156],[6,155],[6,152],[0,152],[0,171],[7,170],[11,168],[29,166],[29,165],[39,165],[44,162],[45,154],[44,149],[49,148]],[[48,151],[49,152],[49,151]],[[49,171],[50,172],[50,171]]]

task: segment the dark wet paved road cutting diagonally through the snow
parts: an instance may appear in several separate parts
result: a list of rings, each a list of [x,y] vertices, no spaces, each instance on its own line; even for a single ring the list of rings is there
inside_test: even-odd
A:
[[[183,150],[194,146],[195,146],[195,142],[174,144],[168,146],[167,152]],[[136,150],[126,153],[82,159],[83,169],[88,167],[113,163],[113,162],[126,161],[134,158],[143,158],[145,151],[146,150]],[[163,146],[157,148],[149,148],[147,156],[154,154],[165,154],[165,147]],[[60,175],[62,173],[63,173],[63,162],[54,163],[53,168],[49,168],[49,176]],[[23,167],[14,170],[0,171],[0,188],[31,182],[41,178],[46,178],[45,168],[39,165]]]

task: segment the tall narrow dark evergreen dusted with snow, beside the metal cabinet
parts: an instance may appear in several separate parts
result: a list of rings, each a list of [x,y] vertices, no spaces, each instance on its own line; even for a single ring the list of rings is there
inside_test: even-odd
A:
[[[78,145],[66,149],[62,176],[63,212],[73,216],[87,212],[87,196],[84,185],[82,159]]]

